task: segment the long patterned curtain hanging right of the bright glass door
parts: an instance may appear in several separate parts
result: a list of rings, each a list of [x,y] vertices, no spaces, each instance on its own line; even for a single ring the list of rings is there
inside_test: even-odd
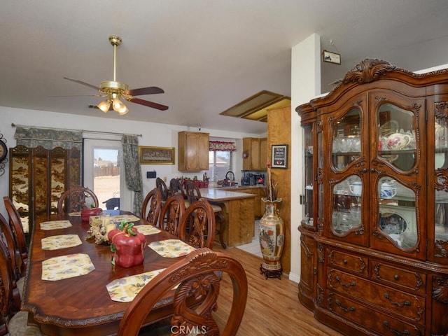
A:
[[[125,181],[129,190],[134,191],[133,213],[138,216],[143,204],[143,181],[139,160],[139,137],[133,134],[123,134],[123,161],[125,162]]]

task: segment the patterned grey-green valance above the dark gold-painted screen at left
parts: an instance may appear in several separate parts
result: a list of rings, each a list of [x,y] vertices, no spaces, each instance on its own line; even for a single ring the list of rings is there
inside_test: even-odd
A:
[[[62,147],[64,149],[83,149],[83,131],[52,130],[38,127],[16,126],[17,144],[28,148],[42,146],[45,149]]]

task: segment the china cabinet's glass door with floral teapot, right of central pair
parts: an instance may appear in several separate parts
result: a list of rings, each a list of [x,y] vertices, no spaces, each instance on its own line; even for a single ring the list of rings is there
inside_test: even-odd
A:
[[[378,92],[372,104],[374,137],[370,149],[373,231],[371,246],[382,251],[423,258],[421,216],[426,203],[419,193],[427,183],[424,102]],[[378,104],[380,103],[380,104]],[[417,128],[421,127],[421,128]],[[419,130],[419,132],[417,132]],[[419,137],[417,137],[417,135]],[[420,169],[416,169],[421,165]]]

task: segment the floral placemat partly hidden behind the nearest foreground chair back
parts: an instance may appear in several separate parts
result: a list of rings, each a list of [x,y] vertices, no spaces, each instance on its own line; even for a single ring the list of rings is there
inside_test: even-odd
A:
[[[125,278],[116,279],[106,285],[109,296],[113,301],[131,302],[139,293],[146,283],[148,283],[154,276],[162,272],[165,268],[157,269],[155,271],[141,273]]]

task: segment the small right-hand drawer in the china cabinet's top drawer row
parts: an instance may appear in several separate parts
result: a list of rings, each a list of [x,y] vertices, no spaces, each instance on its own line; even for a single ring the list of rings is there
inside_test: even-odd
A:
[[[400,286],[418,293],[426,293],[426,274],[400,269],[382,262],[373,261],[372,276],[386,283]]]

